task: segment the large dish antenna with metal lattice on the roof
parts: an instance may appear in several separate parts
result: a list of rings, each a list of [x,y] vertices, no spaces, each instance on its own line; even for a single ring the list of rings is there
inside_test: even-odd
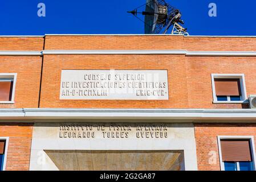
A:
[[[182,27],[184,21],[181,20],[180,10],[166,3],[164,0],[146,0],[145,5],[139,6],[132,11],[136,18],[144,22],[145,34],[166,34],[171,26],[172,35],[189,35],[186,28]],[[145,6],[145,11],[139,12],[138,9]],[[138,14],[144,15],[144,20]]]

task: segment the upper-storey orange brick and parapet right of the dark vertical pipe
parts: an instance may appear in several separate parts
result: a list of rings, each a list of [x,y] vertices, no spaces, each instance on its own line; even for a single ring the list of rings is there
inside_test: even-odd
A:
[[[238,41],[239,40],[239,41]],[[241,44],[245,42],[246,45]],[[183,36],[46,36],[46,50],[185,49],[188,51],[255,51],[255,38]],[[77,108],[242,108],[213,104],[211,73],[244,73],[247,94],[254,93],[255,57],[185,55],[44,55],[40,107]],[[246,64],[245,64],[246,61]],[[229,67],[228,65],[233,65]],[[59,100],[62,69],[168,69],[168,101]],[[198,79],[200,78],[200,79]],[[204,92],[204,97],[199,97]],[[54,104],[53,104],[54,103]]]

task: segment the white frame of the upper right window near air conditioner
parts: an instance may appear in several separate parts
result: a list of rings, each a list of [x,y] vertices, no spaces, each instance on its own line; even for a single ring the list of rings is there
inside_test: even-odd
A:
[[[241,101],[230,101],[230,97],[227,97],[227,101],[218,101],[216,96],[215,90],[215,82],[214,78],[239,78],[240,80],[240,88],[241,88]],[[241,104],[247,103],[247,93],[246,93],[246,86],[245,86],[245,74],[218,74],[212,73],[212,90],[213,90],[213,103],[214,104]]]

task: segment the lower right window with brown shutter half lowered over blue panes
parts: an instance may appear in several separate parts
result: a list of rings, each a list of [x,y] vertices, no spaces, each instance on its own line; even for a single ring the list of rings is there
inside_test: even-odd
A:
[[[223,171],[254,171],[253,137],[218,137],[221,169]]]

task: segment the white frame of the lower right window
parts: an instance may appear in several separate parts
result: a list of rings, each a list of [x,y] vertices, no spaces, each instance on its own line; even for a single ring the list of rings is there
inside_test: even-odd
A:
[[[221,171],[225,171],[224,162],[222,161],[222,154],[221,154],[221,139],[249,139],[250,140],[250,147],[251,147],[251,158],[253,159],[253,171],[256,170],[256,163],[255,163],[255,146],[254,146],[254,137],[253,136],[241,136],[241,135],[235,135],[235,136],[217,136],[218,138],[218,151],[219,151],[219,158],[220,158],[220,166]],[[237,169],[239,169],[239,165],[237,164]]]

